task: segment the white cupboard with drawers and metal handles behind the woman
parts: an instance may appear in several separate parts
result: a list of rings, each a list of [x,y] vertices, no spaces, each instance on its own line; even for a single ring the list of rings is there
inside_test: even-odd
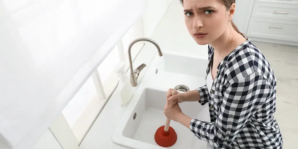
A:
[[[298,46],[298,0],[236,0],[234,21],[251,41]]]

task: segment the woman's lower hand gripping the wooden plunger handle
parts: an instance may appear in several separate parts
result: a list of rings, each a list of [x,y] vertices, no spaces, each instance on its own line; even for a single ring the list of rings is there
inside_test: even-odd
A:
[[[174,106],[169,106],[167,103],[164,105],[164,115],[173,121],[178,121],[179,116],[183,114],[179,104],[176,103]]]

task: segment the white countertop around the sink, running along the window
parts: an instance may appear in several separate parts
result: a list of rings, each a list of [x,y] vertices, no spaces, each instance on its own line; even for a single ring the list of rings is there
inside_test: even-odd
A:
[[[183,52],[184,54],[189,53],[205,58],[208,56],[207,45],[200,46],[196,44],[187,31],[184,24],[183,7],[181,7],[179,1],[173,1],[170,4],[170,7],[159,24],[157,24],[150,38],[159,44],[163,52]],[[149,65],[156,53],[156,47],[153,44],[145,42],[145,46],[136,57],[133,67],[136,68],[142,63]],[[142,70],[138,84],[142,81],[147,68],[145,67]],[[127,73],[130,72],[128,71]],[[126,148],[112,141],[112,135],[118,125],[118,121],[129,104],[122,106],[119,100],[120,95],[117,88],[80,144],[79,149]]]

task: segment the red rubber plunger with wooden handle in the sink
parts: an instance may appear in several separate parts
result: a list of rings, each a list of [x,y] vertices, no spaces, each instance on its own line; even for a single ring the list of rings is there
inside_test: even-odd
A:
[[[155,142],[164,148],[170,147],[176,143],[177,134],[170,127],[171,120],[167,118],[165,125],[159,127],[154,135]]]

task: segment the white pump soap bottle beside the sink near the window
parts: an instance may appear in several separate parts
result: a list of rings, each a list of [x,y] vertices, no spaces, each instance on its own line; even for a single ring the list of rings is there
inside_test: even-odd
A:
[[[118,74],[118,77],[120,77],[118,88],[121,97],[121,105],[126,105],[131,100],[133,89],[128,78],[125,77],[124,63],[119,64],[116,73]]]

